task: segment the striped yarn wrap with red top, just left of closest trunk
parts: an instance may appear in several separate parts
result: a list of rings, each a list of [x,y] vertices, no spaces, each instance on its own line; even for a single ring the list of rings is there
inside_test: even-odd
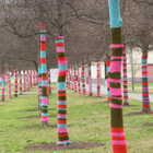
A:
[[[109,78],[108,78],[109,67],[110,67],[110,60],[106,60],[107,101],[110,101],[110,89],[109,89]]]

